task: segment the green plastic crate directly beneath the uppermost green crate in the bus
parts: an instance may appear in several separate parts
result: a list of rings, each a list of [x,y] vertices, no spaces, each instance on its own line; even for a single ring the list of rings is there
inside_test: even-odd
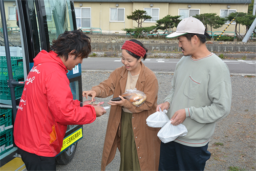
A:
[[[16,99],[22,97],[23,88],[24,86],[16,86],[14,88]],[[0,80],[0,99],[11,100],[11,91],[7,81]]]

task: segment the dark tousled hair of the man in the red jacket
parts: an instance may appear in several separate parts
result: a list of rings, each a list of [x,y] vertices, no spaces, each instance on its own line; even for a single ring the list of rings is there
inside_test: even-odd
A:
[[[75,59],[76,57],[87,58],[91,53],[91,38],[82,30],[65,31],[52,41],[50,50],[58,56],[63,56],[65,61],[68,60],[69,53],[73,50],[75,51],[71,54],[75,55]]]

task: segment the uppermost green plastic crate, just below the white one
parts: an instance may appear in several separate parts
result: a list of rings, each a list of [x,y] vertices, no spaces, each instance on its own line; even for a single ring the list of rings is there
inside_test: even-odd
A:
[[[13,79],[24,78],[23,57],[11,56]],[[0,80],[8,80],[6,56],[0,56]]]

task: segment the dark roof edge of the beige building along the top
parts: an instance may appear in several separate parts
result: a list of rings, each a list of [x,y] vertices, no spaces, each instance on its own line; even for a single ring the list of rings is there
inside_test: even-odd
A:
[[[101,2],[101,3],[201,3],[201,4],[250,4],[251,0],[74,0],[74,2]]]

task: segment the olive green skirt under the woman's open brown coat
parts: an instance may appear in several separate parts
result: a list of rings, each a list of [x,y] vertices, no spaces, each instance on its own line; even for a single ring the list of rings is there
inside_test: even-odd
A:
[[[122,111],[121,116],[121,147],[120,171],[140,171],[136,144],[133,135],[132,113]]]

